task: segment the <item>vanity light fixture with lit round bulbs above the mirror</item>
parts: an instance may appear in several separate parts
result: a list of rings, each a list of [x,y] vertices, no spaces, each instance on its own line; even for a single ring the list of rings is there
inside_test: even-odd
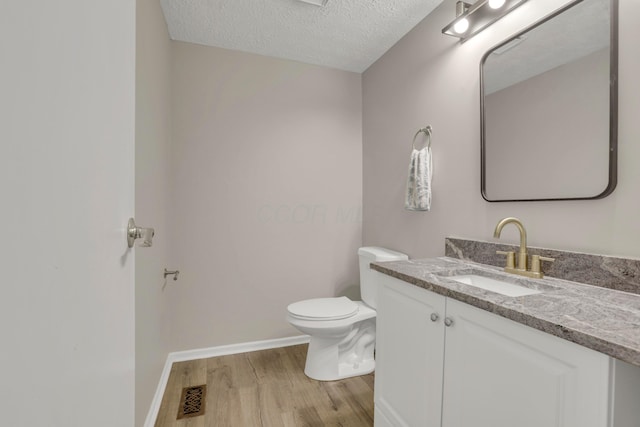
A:
[[[442,34],[460,41],[475,36],[527,0],[477,0],[473,4],[458,1],[456,19],[442,29]]]

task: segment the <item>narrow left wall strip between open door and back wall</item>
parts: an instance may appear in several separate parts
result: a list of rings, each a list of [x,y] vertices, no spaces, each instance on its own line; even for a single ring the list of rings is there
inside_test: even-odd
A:
[[[136,2],[136,207],[138,225],[154,227],[150,248],[136,248],[136,423],[144,422],[168,353],[162,271],[168,251],[171,49],[158,0]]]

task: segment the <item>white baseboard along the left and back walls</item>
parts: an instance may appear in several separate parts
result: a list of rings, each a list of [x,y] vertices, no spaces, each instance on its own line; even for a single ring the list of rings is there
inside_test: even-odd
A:
[[[158,388],[151,401],[151,407],[147,413],[147,419],[145,420],[144,427],[153,427],[158,417],[158,411],[160,410],[160,404],[162,403],[162,396],[167,387],[169,381],[169,374],[171,373],[171,365],[175,362],[185,362],[187,360],[206,359],[209,357],[226,356],[228,354],[248,353],[251,351],[268,350],[271,348],[289,347],[292,345],[306,344],[309,342],[308,335],[300,335],[297,337],[277,338],[273,340],[253,341],[247,343],[223,345],[219,347],[200,348],[196,350],[176,351],[169,353],[167,361],[164,364],[164,369],[160,375],[160,381],[158,382]]]

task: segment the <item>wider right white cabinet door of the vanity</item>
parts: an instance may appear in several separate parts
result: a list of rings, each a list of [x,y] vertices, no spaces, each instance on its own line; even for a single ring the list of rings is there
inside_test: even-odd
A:
[[[610,359],[447,300],[443,427],[608,425]]]

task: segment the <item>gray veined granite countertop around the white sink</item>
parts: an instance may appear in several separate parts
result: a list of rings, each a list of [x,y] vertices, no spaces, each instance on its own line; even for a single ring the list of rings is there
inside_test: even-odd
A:
[[[640,366],[640,295],[552,277],[528,279],[449,257],[372,263],[415,286]],[[472,270],[543,291],[508,297],[447,279]]]

